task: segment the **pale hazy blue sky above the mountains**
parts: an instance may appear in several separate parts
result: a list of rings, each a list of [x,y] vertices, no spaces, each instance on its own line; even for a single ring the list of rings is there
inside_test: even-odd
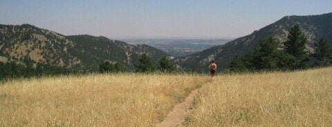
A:
[[[1,0],[0,23],[110,39],[235,38],[331,0]]]

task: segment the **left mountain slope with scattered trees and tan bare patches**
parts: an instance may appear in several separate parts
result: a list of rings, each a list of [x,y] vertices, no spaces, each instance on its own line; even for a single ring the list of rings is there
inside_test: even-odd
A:
[[[0,25],[0,61],[83,71],[97,71],[103,61],[113,61],[132,69],[143,52],[153,61],[167,56],[165,52],[147,45],[133,46],[107,37],[65,36],[29,24]]]

